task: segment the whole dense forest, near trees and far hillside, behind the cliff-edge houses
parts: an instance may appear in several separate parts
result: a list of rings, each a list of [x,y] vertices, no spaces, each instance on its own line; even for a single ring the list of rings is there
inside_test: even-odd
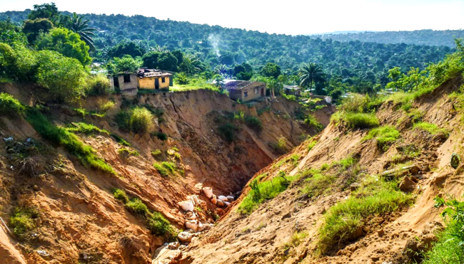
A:
[[[110,73],[143,65],[178,72],[181,83],[193,75],[217,80],[216,74],[263,80],[276,90],[299,84],[319,94],[373,93],[395,76],[418,73],[454,51],[448,46],[333,41],[145,16],[77,15],[58,11],[54,4],[7,11],[0,20],[14,23],[27,36],[29,47],[39,50],[54,46],[56,36],[66,35],[56,28],[69,28],[90,46],[92,60],[105,63]],[[74,58],[83,65],[90,59]]]

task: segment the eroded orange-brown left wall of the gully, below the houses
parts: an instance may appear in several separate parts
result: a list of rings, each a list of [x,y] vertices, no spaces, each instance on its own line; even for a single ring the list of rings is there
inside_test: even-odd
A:
[[[34,95],[43,92],[34,85],[11,84],[1,85],[0,91],[29,106],[39,103]],[[31,227],[25,233],[18,231],[22,235],[19,243],[11,236],[0,236],[1,260],[150,263],[165,238],[151,233],[146,220],[114,199],[112,190],[122,189],[130,198],[140,199],[149,211],[160,212],[180,229],[184,216],[177,203],[186,196],[198,194],[201,186],[211,186],[218,194],[234,194],[278,157],[279,149],[272,146],[279,138],[284,139],[283,148],[291,149],[304,138],[302,134],[315,134],[313,128],[293,119],[298,103],[281,99],[248,107],[225,95],[198,90],[141,95],[133,100],[118,95],[89,97],[83,108],[98,112],[109,99],[115,105],[106,115],[83,114],[66,105],[46,105],[41,111],[57,126],[86,122],[108,131],[76,135],[93,147],[117,176],[84,166],[81,157],[70,154],[63,143],[44,139],[24,118],[0,117],[0,216],[8,221],[15,212],[22,212],[19,216],[27,215],[29,222],[24,223]],[[114,120],[121,107],[136,105],[158,112],[152,130],[158,134],[117,129]],[[331,106],[325,107],[316,117],[327,124],[332,111]],[[234,112],[238,119],[233,118]],[[248,127],[240,112],[244,117],[258,117],[261,132]],[[218,129],[229,123],[234,127],[230,143]],[[161,132],[168,136],[166,140],[157,137]],[[118,144],[121,140],[114,134],[130,146]],[[168,176],[153,168],[153,163],[161,162],[175,167]],[[198,217],[212,222],[222,210],[205,201],[206,208]],[[34,213],[24,213],[31,208]]]

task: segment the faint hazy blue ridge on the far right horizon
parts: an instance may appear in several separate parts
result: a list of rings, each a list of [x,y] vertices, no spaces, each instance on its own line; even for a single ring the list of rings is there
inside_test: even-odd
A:
[[[311,35],[311,38],[332,39],[333,41],[363,41],[376,43],[406,43],[428,46],[454,47],[455,38],[463,38],[464,30],[434,31],[423,29],[420,31],[380,31],[380,32],[348,32]]]

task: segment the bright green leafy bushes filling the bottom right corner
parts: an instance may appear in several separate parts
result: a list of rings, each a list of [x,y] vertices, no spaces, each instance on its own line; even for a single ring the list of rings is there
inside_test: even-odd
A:
[[[438,234],[438,241],[424,254],[424,264],[459,264],[464,261],[464,203],[456,199],[435,198],[435,207],[447,206],[441,213],[446,228]]]

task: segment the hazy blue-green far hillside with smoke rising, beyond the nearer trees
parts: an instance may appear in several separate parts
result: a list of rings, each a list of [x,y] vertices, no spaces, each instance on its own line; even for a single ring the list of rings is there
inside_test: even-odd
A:
[[[7,11],[0,13],[0,19],[10,17],[12,21],[21,23],[29,12],[29,9]],[[453,51],[449,46],[375,43],[373,39],[370,39],[371,42],[333,41],[329,35],[317,38],[269,34],[146,16],[85,16],[90,20],[90,25],[99,30],[95,38],[97,51],[92,55],[96,60],[107,59],[106,51],[111,46],[121,41],[134,41],[146,51],[161,46],[170,51],[180,49],[195,54],[211,67],[224,64],[232,68],[233,65],[247,62],[259,70],[266,63],[273,62],[280,65],[284,73],[295,74],[302,63],[314,62],[321,63],[331,74],[370,80],[375,76],[380,78],[380,75],[385,78],[388,69],[396,66],[404,71],[410,67],[425,68],[428,63],[437,62]],[[367,36],[365,34],[375,33],[330,36],[336,39],[359,34]]]

